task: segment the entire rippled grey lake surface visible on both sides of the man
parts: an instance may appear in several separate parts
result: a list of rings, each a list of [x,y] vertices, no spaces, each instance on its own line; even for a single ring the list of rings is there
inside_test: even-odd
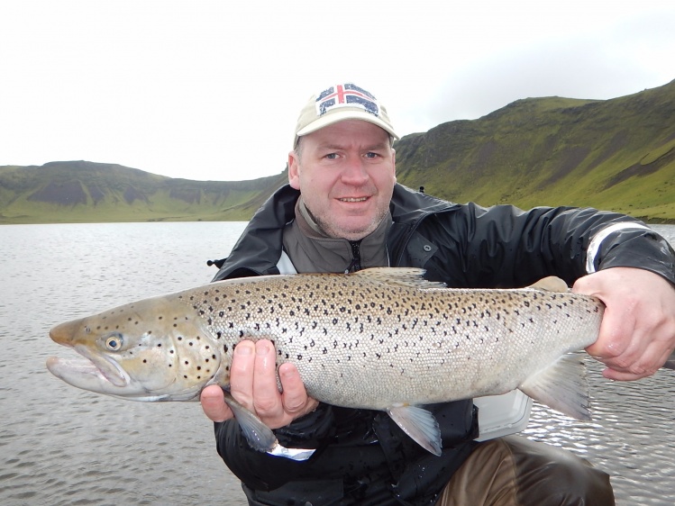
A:
[[[196,402],[128,402],[50,375],[55,323],[215,274],[245,223],[0,227],[0,504],[244,505]],[[675,226],[655,227],[675,242]],[[609,383],[588,360],[593,421],[535,406],[530,438],[612,475],[623,505],[675,503],[675,373]]]

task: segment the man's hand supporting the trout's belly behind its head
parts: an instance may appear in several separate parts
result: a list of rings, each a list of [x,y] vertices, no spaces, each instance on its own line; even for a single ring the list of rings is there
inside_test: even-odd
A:
[[[296,366],[279,366],[283,393],[278,391],[277,353],[267,339],[242,341],[234,348],[230,367],[230,392],[234,399],[256,413],[270,429],[278,429],[316,409],[318,401],[307,396]],[[214,421],[228,420],[233,412],[225,404],[220,386],[207,386],[201,394],[202,409]]]

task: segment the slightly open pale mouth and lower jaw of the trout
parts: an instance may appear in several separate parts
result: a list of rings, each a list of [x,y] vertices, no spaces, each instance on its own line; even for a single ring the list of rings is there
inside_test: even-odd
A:
[[[81,358],[47,359],[47,368],[52,375],[73,386],[95,391],[107,391],[111,384],[124,388],[131,383],[129,375],[113,359],[96,355],[83,345],[75,345],[73,348],[82,356]],[[95,385],[99,388],[92,388]]]

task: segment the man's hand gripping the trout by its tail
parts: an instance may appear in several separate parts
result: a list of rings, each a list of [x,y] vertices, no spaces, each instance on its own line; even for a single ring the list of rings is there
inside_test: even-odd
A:
[[[661,276],[614,267],[581,277],[572,292],[593,295],[607,309],[588,355],[607,365],[603,375],[636,380],[653,375],[675,348],[675,288]]]

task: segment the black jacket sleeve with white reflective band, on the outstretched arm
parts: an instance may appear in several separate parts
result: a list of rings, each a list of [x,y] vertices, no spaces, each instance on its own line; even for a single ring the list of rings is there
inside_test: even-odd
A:
[[[609,267],[638,267],[675,282],[675,253],[642,221],[592,208],[468,204],[455,223],[460,264],[470,285],[530,285]]]

